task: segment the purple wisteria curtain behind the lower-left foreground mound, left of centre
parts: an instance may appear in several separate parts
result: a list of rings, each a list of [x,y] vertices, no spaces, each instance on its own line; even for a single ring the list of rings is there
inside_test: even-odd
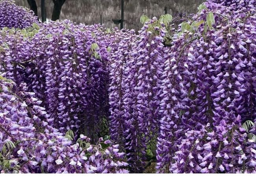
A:
[[[50,125],[84,133],[95,143],[108,116],[108,61],[121,40],[113,37],[117,33],[130,32],[68,20],[21,31],[4,28],[0,69],[17,84],[27,83],[43,101]]]

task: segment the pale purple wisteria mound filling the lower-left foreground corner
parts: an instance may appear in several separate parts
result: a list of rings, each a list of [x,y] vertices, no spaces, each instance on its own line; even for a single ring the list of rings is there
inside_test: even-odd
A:
[[[65,135],[50,126],[42,101],[27,90],[26,84],[18,86],[0,76],[1,173],[128,172],[122,169],[128,164],[122,162],[119,145],[102,138],[92,145],[84,135],[72,143],[72,133]]]

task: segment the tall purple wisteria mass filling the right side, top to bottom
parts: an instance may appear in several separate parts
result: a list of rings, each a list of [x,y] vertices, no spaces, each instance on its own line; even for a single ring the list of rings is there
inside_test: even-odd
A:
[[[201,23],[173,37],[162,80],[158,172],[256,172],[255,128],[246,125],[256,121],[255,1],[239,2],[239,9],[207,2],[194,19],[210,29]]]

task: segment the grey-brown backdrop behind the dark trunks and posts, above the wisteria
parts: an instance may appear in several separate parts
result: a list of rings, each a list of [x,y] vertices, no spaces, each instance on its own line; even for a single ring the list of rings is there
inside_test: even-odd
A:
[[[167,13],[178,15],[179,13],[193,13],[197,7],[205,0],[124,0],[124,18],[126,20],[125,28],[140,30],[141,15],[147,15],[152,18],[160,17],[164,14],[164,8],[167,7]],[[19,6],[28,6],[27,0],[15,0]],[[39,18],[41,18],[41,0],[36,0]],[[45,0],[47,18],[51,18],[53,10],[52,0]],[[120,0],[66,0],[61,9],[60,20],[70,19],[73,22],[85,23],[88,25],[102,23],[107,28],[119,27],[115,25],[112,19],[121,19]]]

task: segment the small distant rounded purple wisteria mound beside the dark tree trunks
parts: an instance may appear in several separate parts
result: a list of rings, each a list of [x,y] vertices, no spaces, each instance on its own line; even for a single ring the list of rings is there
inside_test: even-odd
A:
[[[23,29],[37,22],[33,11],[16,6],[13,0],[0,0],[0,29],[4,27]]]

